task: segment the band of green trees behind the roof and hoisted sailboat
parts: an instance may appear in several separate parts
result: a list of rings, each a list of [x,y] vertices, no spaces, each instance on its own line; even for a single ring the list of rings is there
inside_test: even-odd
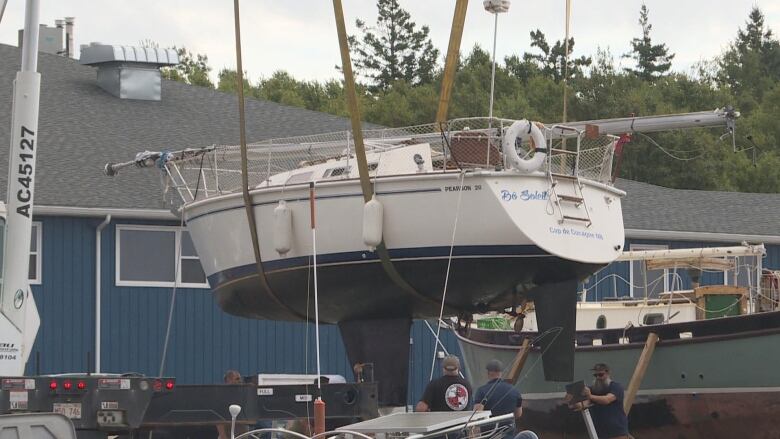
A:
[[[602,49],[593,58],[570,60],[569,120],[682,113],[732,104],[742,113],[736,153],[731,138],[721,139],[719,130],[634,135],[624,149],[620,176],[674,188],[780,192],[780,44],[761,12],[753,9],[724,54],[700,63],[691,74],[660,67],[671,61],[671,55],[667,57],[665,45],[649,39],[646,8],[644,18],[643,38],[634,40],[639,44],[635,48],[663,47],[663,56],[643,58],[648,62],[632,71],[616,68],[612,54]],[[557,122],[563,110],[565,49],[561,41],[551,46],[540,31],[532,32],[532,37],[535,53],[507,56],[496,67],[494,114]],[[460,60],[450,117],[488,113],[490,71],[490,54],[479,46]],[[426,75],[430,78],[425,81],[419,75],[387,76],[382,87],[372,78],[358,84],[363,120],[385,126],[432,122],[441,72]],[[217,88],[235,92],[235,71],[222,70]],[[348,116],[339,80],[300,81],[278,71],[256,85],[245,79],[244,89],[247,96]],[[751,149],[754,145],[758,149]]]

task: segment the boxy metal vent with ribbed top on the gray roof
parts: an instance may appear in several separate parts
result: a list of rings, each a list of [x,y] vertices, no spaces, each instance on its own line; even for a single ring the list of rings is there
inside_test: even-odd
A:
[[[79,63],[96,66],[98,85],[114,96],[159,101],[160,67],[178,64],[179,56],[173,49],[91,43],[81,46]]]

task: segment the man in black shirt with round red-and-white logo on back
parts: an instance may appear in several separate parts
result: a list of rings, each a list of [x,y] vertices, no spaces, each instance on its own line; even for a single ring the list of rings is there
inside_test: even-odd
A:
[[[471,406],[471,384],[460,377],[460,360],[454,355],[441,363],[444,375],[428,383],[415,411],[458,412]]]

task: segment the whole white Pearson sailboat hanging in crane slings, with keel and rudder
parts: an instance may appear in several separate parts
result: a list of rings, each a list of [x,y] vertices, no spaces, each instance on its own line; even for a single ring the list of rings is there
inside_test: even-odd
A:
[[[231,314],[312,316],[316,248],[320,321],[338,323],[350,360],[381,363],[380,381],[405,395],[405,373],[388,375],[407,367],[413,317],[469,319],[525,299],[540,328],[555,330],[542,342],[545,376],[569,380],[577,283],[619,257],[625,238],[612,158],[626,137],[616,134],[731,126],[735,117],[716,110],[549,127],[469,118],[364,131],[373,197],[358,178],[351,132],[252,144],[246,161],[238,146],[147,151],[106,173],[163,171],[171,207]]]

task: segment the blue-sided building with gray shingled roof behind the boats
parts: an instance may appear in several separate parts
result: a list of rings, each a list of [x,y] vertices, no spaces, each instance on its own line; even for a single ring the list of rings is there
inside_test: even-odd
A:
[[[18,65],[18,49],[0,45],[0,105],[9,110]],[[247,375],[313,371],[311,325],[223,313],[200,277],[194,253],[183,250],[182,272],[171,271],[174,248],[181,242],[186,249],[188,238],[165,208],[151,172],[113,180],[102,174],[106,162],[130,159],[144,149],[235,143],[235,97],[163,81],[161,101],[125,100],[101,90],[94,71],[73,60],[41,54],[39,69],[43,86],[30,275],[42,324],[28,373],[97,369],[156,375],[174,291],[165,374],[182,383],[213,383],[231,368]],[[253,99],[247,113],[253,140],[348,127],[342,118]],[[0,111],[0,127],[10,126],[9,114]],[[0,144],[9,141],[7,131],[0,130]],[[5,160],[7,154],[0,151],[0,169],[7,166]],[[0,173],[0,193],[5,178]],[[780,269],[780,195],[674,190],[631,181],[618,186],[628,193],[626,249],[763,242],[768,249],[764,266]],[[608,272],[630,281],[626,264]],[[614,294],[606,284],[591,291],[589,300]],[[618,291],[632,294],[627,286]],[[441,350],[434,349],[432,330],[425,322],[415,322],[412,330],[410,403],[422,393]],[[337,328],[323,326],[322,336],[323,370],[351,379]],[[451,334],[443,332],[442,341],[458,353]]]

